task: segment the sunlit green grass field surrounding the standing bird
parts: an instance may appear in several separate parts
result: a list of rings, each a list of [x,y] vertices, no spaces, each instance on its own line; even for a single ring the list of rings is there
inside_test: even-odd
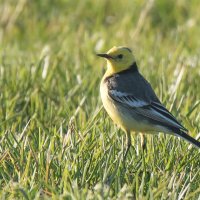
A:
[[[99,82],[114,45],[133,49],[161,101],[200,132],[198,0],[1,0],[2,199],[198,199],[200,153],[173,136],[124,134]]]

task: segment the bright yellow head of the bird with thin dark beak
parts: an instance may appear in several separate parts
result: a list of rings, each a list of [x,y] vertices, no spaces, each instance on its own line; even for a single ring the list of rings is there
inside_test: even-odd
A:
[[[113,47],[107,53],[97,54],[106,58],[109,73],[117,73],[128,69],[134,62],[135,57],[127,47]]]

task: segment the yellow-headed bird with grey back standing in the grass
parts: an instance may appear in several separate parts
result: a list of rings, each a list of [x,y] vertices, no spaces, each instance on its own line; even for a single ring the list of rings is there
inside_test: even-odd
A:
[[[130,48],[114,46],[107,53],[97,56],[107,61],[100,95],[108,115],[126,133],[125,158],[131,147],[131,132],[163,132],[200,148],[200,142],[188,135],[188,130],[166,109],[139,72]]]

